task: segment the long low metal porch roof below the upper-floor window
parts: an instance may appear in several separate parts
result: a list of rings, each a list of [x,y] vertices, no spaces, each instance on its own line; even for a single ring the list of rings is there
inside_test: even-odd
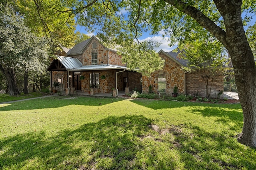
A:
[[[116,69],[127,70],[128,68],[124,66],[117,66],[112,64],[100,64],[100,65],[80,66],[78,68],[71,69],[71,71],[116,70]]]

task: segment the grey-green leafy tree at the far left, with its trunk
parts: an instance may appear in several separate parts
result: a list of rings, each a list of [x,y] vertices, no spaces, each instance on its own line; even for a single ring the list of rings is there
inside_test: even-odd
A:
[[[0,70],[8,80],[10,96],[15,96],[20,94],[16,72],[23,70],[24,76],[27,76],[29,70],[38,71],[38,64],[48,58],[47,47],[24,25],[22,16],[15,13],[13,8],[6,6],[1,9]]]

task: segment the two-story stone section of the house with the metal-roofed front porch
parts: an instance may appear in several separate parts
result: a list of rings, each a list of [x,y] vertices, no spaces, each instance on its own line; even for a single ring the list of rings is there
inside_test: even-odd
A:
[[[92,36],[72,49],[62,49],[47,69],[51,75],[50,90],[58,82],[58,90],[65,90],[66,94],[90,89],[92,94],[110,93],[126,87],[141,91],[141,74],[129,71],[117,51],[102,45],[97,37]]]

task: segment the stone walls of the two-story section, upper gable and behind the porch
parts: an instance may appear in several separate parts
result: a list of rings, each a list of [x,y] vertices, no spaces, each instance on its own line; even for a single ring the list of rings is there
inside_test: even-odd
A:
[[[79,46],[79,45],[78,45]],[[116,53],[116,51],[108,49],[104,47],[98,41],[98,39],[94,36],[87,41],[84,41],[84,46],[80,45],[82,51],[81,54],[78,53],[79,50],[77,50],[76,47],[76,53],[72,52],[72,55],[70,53],[66,53],[65,51],[60,51],[58,54],[62,55],[64,57],[72,57],[78,59],[83,66],[92,65],[92,53],[97,53],[97,65],[101,64],[112,64],[112,65],[118,65],[118,66],[125,66],[125,64],[122,63],[122,57]],[[94,93],[112,93],[112,89],[116,88],[116,72],[119,72],[122,70],[94,70],[93,74],[99,74],[99,87],[94,88]],[[54,75],[65,75],[63,76],[64,85],[62,85],[62,88],[59,88],[59,90],[65,90],[67,88],[67,71],[65,72],[52,72],[52,82],[55,81]],[[80,74],[80,75],[79,75]],[[88,92],[90,88],[90,74],[92,74],[92,71],[78,71],[76,72],[76,76],[84,76],[84,79],[80,80],[81,83],[81,91],[82,92]],[[70,71],[69,79],[69,87],[73,87],[73,81],[74,81],[74,72]],[[103,77],[102,77],[103,76]],[[130,80],[130,84],[127,83],[131,90],[138,89],[141,91],[141,83],[140,78],[141,74],[137,72],[120,72],[117,73],[117,88],[118,90],[125,90],[125,82],[124,78],[127,77],[126,80]],[[77,89],[76,89],[77,90]]]

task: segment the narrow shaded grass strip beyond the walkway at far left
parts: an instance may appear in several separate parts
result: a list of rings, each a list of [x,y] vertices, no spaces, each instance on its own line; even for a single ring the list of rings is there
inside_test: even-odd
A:
[[[1,102],[8,102],[8,101],[15,101],[15,100],[22,100],[28,98],[36,98],[40,96],[44,96],[44,93],[41,92],[32,92],[29,94],[20,94],[18,96],[9,96],[9,94],[0,94],[0,103]]]

